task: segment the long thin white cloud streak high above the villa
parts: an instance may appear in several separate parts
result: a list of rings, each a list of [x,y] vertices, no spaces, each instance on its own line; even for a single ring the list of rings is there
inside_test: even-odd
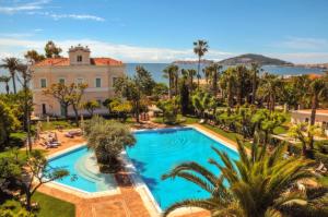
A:
[[[27,12],[30,15],[44,15],[54,19],[55,21],[61,20],[61,19],[73,19],[73,20],[91,20],[91,21],[98,21],[98,22],[104,22],[105,19],[95,16],[95,15],[90,15],[90,14],[58,14],[58,13],[52,13],[52,12],[38,12],[38,11],[33,11],[33,12]]]

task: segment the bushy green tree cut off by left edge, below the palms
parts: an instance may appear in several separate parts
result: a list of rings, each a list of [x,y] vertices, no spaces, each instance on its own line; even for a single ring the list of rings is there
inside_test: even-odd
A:
[[[0,149],[3,149],[12,133],[20,122],[12,113],[9,106],[0,100]]]

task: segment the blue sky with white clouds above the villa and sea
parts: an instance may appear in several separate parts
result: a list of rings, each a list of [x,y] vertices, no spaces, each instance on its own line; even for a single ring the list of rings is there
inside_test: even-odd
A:
[[[89,46],[125,62],[261,53],[294,63],[328,62],[327,0],[0,0],[0,58],[43,52],[54,40]]]

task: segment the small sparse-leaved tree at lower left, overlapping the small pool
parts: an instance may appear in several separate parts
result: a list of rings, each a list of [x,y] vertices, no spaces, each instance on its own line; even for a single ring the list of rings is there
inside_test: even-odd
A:
[[[69,176],[68,170],[49,167],[47,158],[43,156],[40,150],[32,152],[23,167],[21,180],[26,195],[26,209],[31,210],[31,198],[39,186],[67,176]]]

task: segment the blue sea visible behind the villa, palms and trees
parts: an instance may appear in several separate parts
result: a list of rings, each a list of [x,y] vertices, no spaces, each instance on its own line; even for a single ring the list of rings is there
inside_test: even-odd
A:
[[[153,75],[153,79],[156,82],[167,83],[167,79],[163,77],[163,70],[168,65],[169,63],[126,63],[126,73],[129,76],[133,76],[136,73],[136,67],[142,65],[148,71],[150,71]],[[197,70],[198,64],[177,64],[179,69],[195,69]],[[207,64],[201,64],[201,69],[207,67]],[[224,68],[223,68],[224,70]],[[301,75],[301,74],[321,74],[324,73],[323,69],[316,69],[316,68],[301,68],[301,67],[278,67],[278,65],[263,65],[262,67],[263,72],[269,72],[272,74],[278,75]],[[202,75],[202,73],[200,73]],[[9,72],[5,69],[0,69],[0,76],[1,75],[9,75]],[[9,83],[10,89],[12,91],[12,82]],[[17,89],[20,89],[20,84],[16,82]],[[4,84],[0,83],[0,93],[4,93]]]

